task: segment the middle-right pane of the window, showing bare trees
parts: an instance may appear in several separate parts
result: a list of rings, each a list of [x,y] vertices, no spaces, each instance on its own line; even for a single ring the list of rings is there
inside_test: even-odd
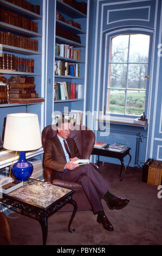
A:
[[[146,89],[147,64],[128,65],[128,88]]]

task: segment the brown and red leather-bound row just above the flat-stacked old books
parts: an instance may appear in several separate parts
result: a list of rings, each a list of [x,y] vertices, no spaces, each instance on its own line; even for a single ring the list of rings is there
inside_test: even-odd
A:
[[[14,54],[3,53],[0,57],[0,70],[34,73],[34,59],[17,57]]]

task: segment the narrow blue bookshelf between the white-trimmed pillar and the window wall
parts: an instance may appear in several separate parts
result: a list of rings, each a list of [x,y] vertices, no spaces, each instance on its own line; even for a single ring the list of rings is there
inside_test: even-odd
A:
[[[80,10],[77,10],[73,6],[65,3],[66,1],[56,0],[56,19],[55,19],[55,46],[56,45],[64,45],[64,49],[67,47],[72,47],[72,56],[64,57],[58,56],[56,53],[56,48],[54,47],[54,60],[55,64],[60,61],[67,63],[66,69],[68,69],[68,75],[58,75],[55,71],[54,67],[54,84],[55,87],[59,83],[66,82],[67,87],[69,84],[76,84],[76,88],[78,84],[82,85],[82,96],[80,99],[77,98],[77,90],[76,97],[74,99],[70,99],[70,95],[68,94],[67,99],[54,100],[54,112],[60,111],[63,113],[64,108],[68,109],[69,112],[71,109],[78,109],[79,111],[84,111],[86,106],[86,69],[87,69],[87,40],[88,40],[88,10],[89,10],[89,0],[84,1],[87,4],[87,12],[82,13]],[[75,1],[74,1],[75,2]],[[77,0],[77,2],[83,2]],[[58,14],[59,13],[59,14]],[[64,19],[64,20],[63,20]],[[66,21],[70,21],[67,23]],[[75,24],[76,22],[76,24]],[[60,31],[66,32],[64,34]],[[68,34],[73,34],[74,37],[68,36]],[[74,52],[80,49],[80,53],[78,56],[74,58]],[[69,48],[68,48],[69,50]],[[64,50],[67,51],[67,50]],[[71,54],[71,53],[70,53]],[[70,75],[69,66],[74,64],[75,67],[77,65],[79,69],[79,75],[76,76],[76,70],[74,70],[75,75]],[[72,66],[71,66],[72,67]],[[77,68],[76,68],[77,69]]]

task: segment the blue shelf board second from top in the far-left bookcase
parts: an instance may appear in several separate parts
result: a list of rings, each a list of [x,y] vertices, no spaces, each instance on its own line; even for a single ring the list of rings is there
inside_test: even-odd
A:
[[[40,33],[29,31],[29,30],[24,29],[24,28],[16,27],[14,25],[10,25],[10,24],[4,23],[2,21],[0,22],[0,27],[8,29],[9,31],[12,31],[12,32],[17,32],[17,33],[20,33],[20,34],[23,34],[23,35],[29,35],[29,36],[32,36],[32,37],[35,37],[35,38],[41,38],[42,37],[42,34],[40,34]]]

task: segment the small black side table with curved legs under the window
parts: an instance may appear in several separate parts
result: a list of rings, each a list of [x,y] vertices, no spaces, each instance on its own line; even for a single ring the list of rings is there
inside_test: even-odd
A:
[[[100,148],[93,148],[92,151],[92,155],[98,155],[98,162],[99,162],[99,156],[107,156],[107,157],[114,157],[116,159],[119,159],[121,162],[121,167],[120,167],[120,173],[119,173],[119,180],[122,181],[121,179],[121,173],[122,173],[122,169],[124,166],[124,157],[125,156],[129,156],[129,162],[128,165],[126,167],[126,173],[128,174],[128,167],[129,167],[129,163],[131,162],[131,155],[129,154],[129,150],[131,148],[125,148],[122,151],[115,151],[113,149],[100,149]]]

